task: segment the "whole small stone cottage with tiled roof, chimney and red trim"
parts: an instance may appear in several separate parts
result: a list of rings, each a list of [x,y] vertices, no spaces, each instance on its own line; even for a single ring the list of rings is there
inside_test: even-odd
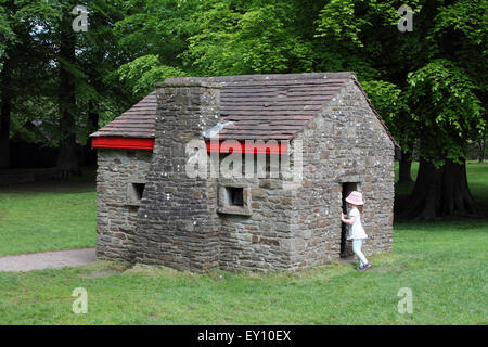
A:
[[[91,137],[100,259],[323,265],[348,255],[351,190],[364,196],[365,253],[391,248],[396,143],[354,73],[170,78]]]

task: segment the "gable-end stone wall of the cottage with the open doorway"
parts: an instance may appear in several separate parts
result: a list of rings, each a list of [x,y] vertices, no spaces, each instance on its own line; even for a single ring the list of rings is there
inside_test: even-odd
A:
[[[363,194],[363,253],[389,252],[394,144],[358,86],[348,82],[296,139],[304,146],[304,181],[293,201],[292,268],[339,259],[345,182],[358,182]]]

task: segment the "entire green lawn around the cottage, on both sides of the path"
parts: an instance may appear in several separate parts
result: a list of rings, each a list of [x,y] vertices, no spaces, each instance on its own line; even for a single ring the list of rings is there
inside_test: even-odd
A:
[[[393,252],[371,257],[367,272],[337,262],[195,274],[106,261],[0,272],[0,324],[487,324],[488,165],[470,162],[467,179],[477,218],[397,219]],[[0,189],[0,256],[94,246],[93,182],[89,171]],[[411,188],[397,185],[397,197]],[[88,293],[86,314],[72,310],[77,287]],[[406,287],[413,311],[400,314]]]

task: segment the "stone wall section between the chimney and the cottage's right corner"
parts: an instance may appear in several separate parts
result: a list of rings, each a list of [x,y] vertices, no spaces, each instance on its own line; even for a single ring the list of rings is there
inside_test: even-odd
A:
[[[291,265],[291,202],[293,191],[281,179],[219,179],[240,182],[251,194],[251,216],[220,214],[220,268],[224,270],[286,270]]]

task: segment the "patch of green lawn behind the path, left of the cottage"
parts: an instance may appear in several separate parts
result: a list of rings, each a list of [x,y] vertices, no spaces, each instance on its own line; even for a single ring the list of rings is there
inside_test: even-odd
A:
[[[0,256],[93,247],[94,183],[24,184],[0,191]]]

